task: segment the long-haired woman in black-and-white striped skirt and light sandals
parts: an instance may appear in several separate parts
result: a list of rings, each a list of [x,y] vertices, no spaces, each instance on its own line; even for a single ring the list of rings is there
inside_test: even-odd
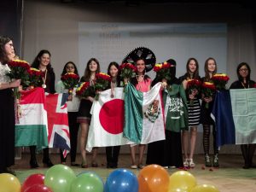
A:
[[[186,96],[188,100],[188,109],[189,109],[189,128],[190,128],[190,139],[189,139],[189,131],[183,130],[182,132],[183,154],[184,154],[183,166],[195,167],[193,156],[195,151],[197,126],[200,124],[201,107],[200,107],[198,90],[193,90],[192,93],[189,93],[187,90],[187,84],[189,79],[200,79],[198,61],[195,58],[189,58],[186,65],[186,69],[187,69],[187,73],[185,73],[182,77],[179,78],[183,83],[184,89],[186,90]],[[193,100],[194,102],[190,103],[191,100]],[[189,140],[190,140],[190,145],[188,143]],[[190,146],[190,153],[188,153],[189,146]]]

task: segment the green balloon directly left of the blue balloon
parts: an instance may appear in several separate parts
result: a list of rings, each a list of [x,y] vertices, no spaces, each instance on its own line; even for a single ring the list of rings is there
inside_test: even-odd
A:
[[[84,172],[79,174],[71,184],[72,192],[103,192],[104,183],[102,178],[95,172]]]

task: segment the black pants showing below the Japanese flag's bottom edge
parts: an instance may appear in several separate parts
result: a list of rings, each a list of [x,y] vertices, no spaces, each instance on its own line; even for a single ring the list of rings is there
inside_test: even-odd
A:
[[[108,166],[118,166],[120,146],[106,148]]]

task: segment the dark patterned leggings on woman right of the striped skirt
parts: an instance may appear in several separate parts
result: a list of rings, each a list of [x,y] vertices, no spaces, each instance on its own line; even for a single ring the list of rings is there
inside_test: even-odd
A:
[[[203,125],[203,146],[204,146],[205,154],[209,154],[209,150],[210,150],[210,133],[211,133],[211,126]],[[216,143],[216,129],[214,125],[212,127],[212,136],[213,136],[213,151],[214,151],[214,154],[218,154],[218,147]]]

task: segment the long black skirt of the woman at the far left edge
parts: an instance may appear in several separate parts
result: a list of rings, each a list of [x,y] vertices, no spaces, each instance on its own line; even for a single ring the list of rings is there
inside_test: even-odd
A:
[[[0,90],[0,172],[15,164],[15,98],[10,89]]]

